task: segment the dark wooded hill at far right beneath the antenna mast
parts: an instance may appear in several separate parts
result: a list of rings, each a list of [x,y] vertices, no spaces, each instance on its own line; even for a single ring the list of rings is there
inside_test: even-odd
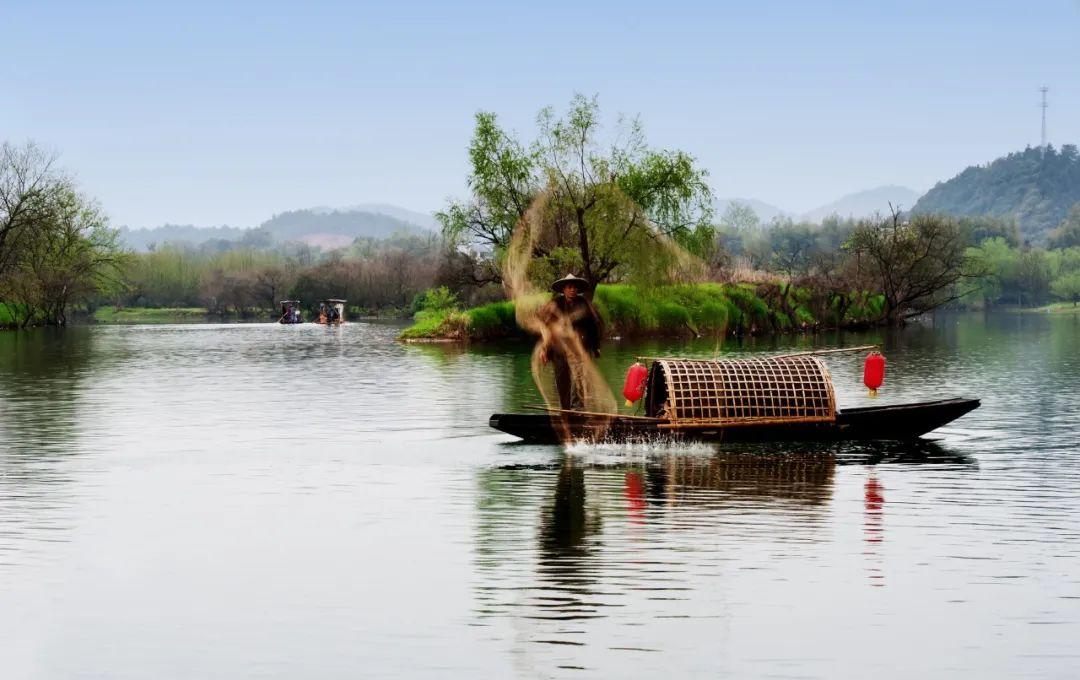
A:
[[[1065,145],[1061,151],[1027,148],[968,167],[935,185],[913,212],[1015,219],[1025,240],[1043,244],[1077,203],[1080,153],[1075,145]]]

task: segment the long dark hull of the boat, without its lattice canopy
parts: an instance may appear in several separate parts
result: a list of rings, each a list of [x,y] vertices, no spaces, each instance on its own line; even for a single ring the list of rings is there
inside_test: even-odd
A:
[[[842,441],[914,439],[978,408],[978,399],[941,399],[837,411],[836,422],[665,430],[656,421],[567,413],[495,413],[488,424],[535,444],[566,438],[633,440],[667,436],[698,441]]]

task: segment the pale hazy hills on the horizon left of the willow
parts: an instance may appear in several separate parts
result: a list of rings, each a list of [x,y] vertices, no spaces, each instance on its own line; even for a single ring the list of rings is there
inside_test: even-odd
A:
[[[274,215],[259,225],[273,241],[301,241],[309,245],[333,249],[349,245],[357,237],[386,239],[393,234],[423,234],[435,228],[434,218],[406,208],[370,204],[334,209],[326,207],[288,210]],[[121,239],[132,248],[146,250],[151,244],[207,241],[253,240],[254,231],[238,227],[194,227],[163,225],[153,229],[121,228]]]

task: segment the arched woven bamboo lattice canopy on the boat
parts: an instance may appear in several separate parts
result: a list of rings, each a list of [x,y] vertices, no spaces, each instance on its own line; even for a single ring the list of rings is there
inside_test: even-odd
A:
[[[813,356],[754,359],[657,359],[666,398],[661,426],[829,423],[836,395],[825,365]],[[653,385],[650,385],[652,387]]]

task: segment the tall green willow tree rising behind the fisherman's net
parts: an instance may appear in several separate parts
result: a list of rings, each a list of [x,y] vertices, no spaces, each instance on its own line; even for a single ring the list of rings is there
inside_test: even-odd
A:
[[[498,261],[543,196],[538,272],[573,270],[597,284],[648,269],[672,242],[702,255],[712,246],[712,194],[692,157],[650,148],[636,119],[605,136],[595,97],[575,96],[562,117],[543,109],[537,126],[526,145],[494,113],[477,113],[472,196],[437,215],[449,241],[478,245]]]

